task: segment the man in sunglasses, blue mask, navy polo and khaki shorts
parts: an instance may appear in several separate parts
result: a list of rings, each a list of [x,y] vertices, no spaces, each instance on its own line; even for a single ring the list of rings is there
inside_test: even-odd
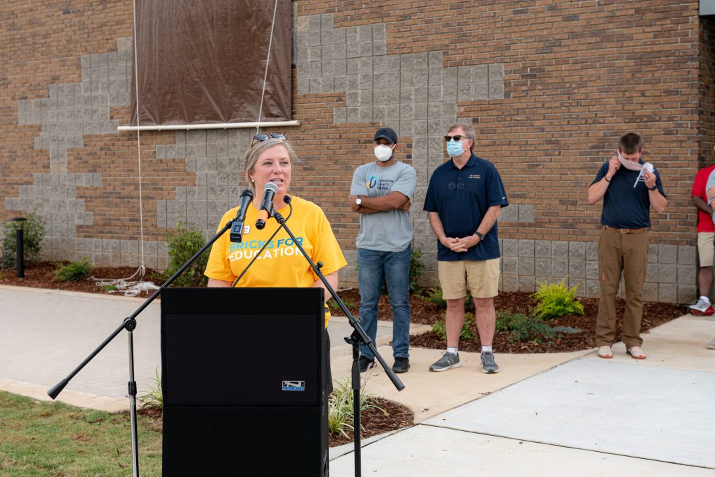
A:
[[[459,336],[469,287],[482,343],[482,370],[499,372],[492,351],[501,259],[496,219],[509,202],[493,164],[472,153],[474,139],[470,124],[450,127],[445,141],[451,159],[435,169],[425,198],[424,210],[429,212],[430,226],[438,239],[438,273],[447,302],[447,351],[430,371],[461,366]]]

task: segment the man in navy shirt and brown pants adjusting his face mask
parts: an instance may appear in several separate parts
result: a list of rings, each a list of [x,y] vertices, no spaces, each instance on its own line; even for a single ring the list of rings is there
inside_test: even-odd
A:
[[[596,318],[598,356],[612,358],[616,340],[616,293],[626,283],[626,310],[623,313],[623,343],[629,355],[644,359],[641,349],[643,284],[648,266],[650,209],[662,212],[668,201],[661,176],[641,159],[641,136],[628,133],[618,142],[618,153],[601,165],[588,187],[588,203],[603,198],[601,237],[598,239],[598,278],[601,299]]]

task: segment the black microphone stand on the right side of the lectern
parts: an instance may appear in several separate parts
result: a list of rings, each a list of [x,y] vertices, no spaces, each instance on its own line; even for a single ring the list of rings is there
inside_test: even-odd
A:
[[[287,200],[286,200],[287,199]],[[283,201],[286,204],[290,205],[291,198],[290,196],[285,196],[283,198]],[[292,210],[292,206],[291,206]],[[290,236],[290,238],[293,240],[293,243],[297,246],[298,250],[300,253],[302,253],[302,256],[305,257],[305,260],[310,264],[310,268],[315,272],[315,274],[320,278],[320,281],[322,281],[323,285],[325,285],[325,288],[327,291],[330,292],[330,295],[332,295],[332,298],[335,298],[335,301],[337,301],[337,304],[340,306],[340,309],[342,309],[342,312],[345,313],[345,316],[347,316],[347,321],[350,323],[350,326],[352,326],[352,334],[350,337],[345,338],[345,342],[352,345],[352,368],[351,368],[351,385],[352,385],[352,416],[353,416],[353,441],[355,443],[355,477],[360,477],[361,475],[361,447],[360,447],[360,343],[364,343],[365,346],[370,348],[370,351],[373,352],[373,355],[375,355],[375,358],[378,359],[378,362],[380,363],[380,366],[383,366],[383,369],[385,370],[385,373],[387,373],[388,378],[390,378],[390,381],[392,381],[393,385],[395,388],[397,388],[398,391],[402,391],[405,388],[405,385],[400,381],[400,378],[395,374],[395,371],[393,371],[390,366],[388,366],[388,363],[385,362],[385,359],[380,356],[380,353],[378,353],[378,349],[375,348],[375,343],[373,343],[373,340],[370,339],[370,336],[368,336],[368,333],[365,333],[365,328],[360,324],[361,322],[358,321],[355,316],[352,316],[352,313],[350,313],[350,310],[347,309],[347,306],[345,306],[345,303],[342,303],[342,300],[340,299],[340,296],[337,296],[337,293],[335,290],[332,288],[330,283],[328,283],[327,279],[325,278],[325,275],[322,274],[322,271],[320,271],[320,268],[322,268],[322,262],[318,262],[317,265],[312,261],[310,256],[305,252],[305,249],[300,245],[300,242],[297,241],[295,238],[295,235],[293,235],[292,231],[288,228],[288,226],[285,224],[285,219],[283,216],[280,214],[278,211],[273,211],[271,214],[272,217],[275,217],[276,221],[280,226],[287,232],[287,234]]]

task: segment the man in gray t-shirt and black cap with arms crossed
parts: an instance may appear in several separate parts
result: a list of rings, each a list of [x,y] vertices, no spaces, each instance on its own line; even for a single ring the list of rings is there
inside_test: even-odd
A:
[[[393,308],[393,356],[395,373],[410,367],[410,258],[413,229],[410,204],[417,185],[412,166],[395,160],[398,135],[390,128],[375,133],[377,161],[363,164],[352,174],[350,209],[360,215],[358,284],[360,319],[368,336],[378,332],[378,302],[383,280]],[[360,346],[360,371],[375,365],[375,356]]]

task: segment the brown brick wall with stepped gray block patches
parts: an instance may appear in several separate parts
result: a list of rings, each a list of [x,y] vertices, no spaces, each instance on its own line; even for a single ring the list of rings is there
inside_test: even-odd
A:
[[[586,201],[598,166],[627,131],[644,136],[669,206],[653,214],[646,296],[695,295],[690,187],[714,144],[714,36],[689,1],[296,1],[293,119],[302,163],[292,190],[320,204],[355,280],[352,171],[379,126],[400,134],[418,171],[415,248],[435,268],[421,211],[445,155],[441,136],[472,121],[475,151],[501,171],[511,205],[499,234],[504,290],[569,275],[598,293],[601,206]],[[131,1],[3,4],[0,32],[0,219],[37,208],[46,255],[163,268],[179,220],[209,234],[237,203],[245,130],[144,132],[139,243],[137,134],[127,124]],[[428,273],[427,279],[432,279]]]

